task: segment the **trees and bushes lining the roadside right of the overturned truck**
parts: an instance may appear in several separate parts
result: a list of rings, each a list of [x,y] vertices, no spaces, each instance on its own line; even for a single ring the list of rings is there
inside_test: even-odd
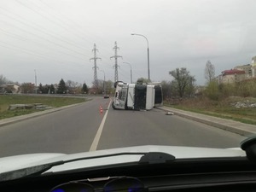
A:
[[[161,82],[164,99],[203,96],[219,101],[229,96],[256,97],[256,79],[245,79],[230,84],[219,83],[211,61],[207,61],[205,66],[206,84],[204,86],[197,86],[195,76],[191,75],[185,67],[176,68],[169,74],[173,80]]]

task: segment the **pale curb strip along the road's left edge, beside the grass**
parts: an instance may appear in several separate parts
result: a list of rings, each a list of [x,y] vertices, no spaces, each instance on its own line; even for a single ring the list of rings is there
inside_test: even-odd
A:
[[[4,126],[4,125],[13,124],[13,123],[16,123],[16,122],[19,122],[19,121],[22,121],[22,120],[32,119],[32,118],[35,118],[35,117],[38,117],[38,116],[42,116],[44,114],[54,113],[56,111],[61,111],[61,110],[67,109],[67,108],[73,108],[73,107],[81,105],[82,103],[84,103],[84,102],[76,103],[76,104],[73,104],[73,105],[67,105],[67,106],[63,106],[63,107],[60,107],[60,108],[51,108],[51,109],[47,109],[47,110],[44,110],[44,111],[24,114],[24,115],[20,115],[20,116],[17,116],[17,117],[1,119],[0,120],[0,127]]]

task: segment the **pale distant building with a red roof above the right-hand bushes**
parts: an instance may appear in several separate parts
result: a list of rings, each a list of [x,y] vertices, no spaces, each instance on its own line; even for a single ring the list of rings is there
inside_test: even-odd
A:
[[[246,79],[245,71],[237,70],[237,69],[230,69],[225,70],[221,74],[221,83],[223,84],[232,84],[235,82],[242,81]]]

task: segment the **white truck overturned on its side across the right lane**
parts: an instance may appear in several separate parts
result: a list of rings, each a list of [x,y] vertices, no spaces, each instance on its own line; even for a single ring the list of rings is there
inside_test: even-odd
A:
[[[163,105],[160,83],[127,84],[116,82],[113,109],[150,110]]]

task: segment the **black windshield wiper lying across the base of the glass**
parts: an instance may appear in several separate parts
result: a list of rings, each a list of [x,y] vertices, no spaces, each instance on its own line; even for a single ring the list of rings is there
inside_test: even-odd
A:
[[[18,169],[11,172],[3,172],[3,173],[0,173],[0,182],[14,180],[21,177],[40,175],[43,172],[48,171],[53,166],[61,166],[63,164],[74,162],[74,161],[91,160],[91,159],[113,157],[113,156],[119,156],[119,155],[143,155],[141,159],[137,162],[138,164],[161,164],[161,163],[167,163],[175,160],[175,157],[172,154],[166,154],[161,152],[147,152],[147,153],[125,152],[125,153],[117,153],[117,154],[102,154],[102,155],[96,155],[96,156],[90,156],[90,157],[75,158],[72,160],[60,160],[60,161],[55,161],[55,162],[51,162],[44,165],[39,165],[39,166],[30,166],[30,167]]]

